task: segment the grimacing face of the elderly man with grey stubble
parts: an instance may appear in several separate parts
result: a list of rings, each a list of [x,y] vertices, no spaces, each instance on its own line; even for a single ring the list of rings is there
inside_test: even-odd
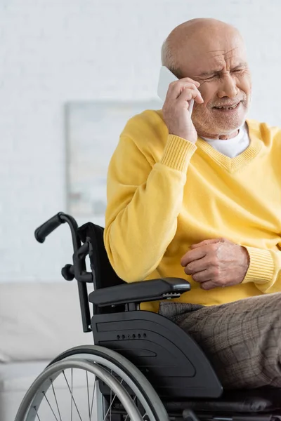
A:
[[[240,36],[226,34],[224,39],[214,39],[202,46],[201,53],[197,48],[184,76],[200,82],[204,99],[203,104],[195,103],[193,107],[197,133],[217,138],[233,133],[244,123],[251,98],[251,76]]]

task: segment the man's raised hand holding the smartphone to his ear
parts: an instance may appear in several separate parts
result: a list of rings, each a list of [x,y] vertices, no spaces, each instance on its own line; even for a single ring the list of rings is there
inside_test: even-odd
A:
[[[199,82],[193,81],[189,77],[170,83],[162,108],[169,134],[177,135],[192,143],[197,140],[197,131],[188,111],[188,101],[193,99],[198,104],[204,102],[200,91],[198,91],[199,86]]]

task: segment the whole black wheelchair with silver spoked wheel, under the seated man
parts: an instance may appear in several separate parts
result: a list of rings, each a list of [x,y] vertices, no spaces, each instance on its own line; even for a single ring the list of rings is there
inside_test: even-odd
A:
[[[62,275],[77,280],[83,330],[93,332],[95,345],[68,349],[51,361],[25,394],[15,421],[281,420],[281,389],[223,390],[187,333],[164,316],[139,309],[141,302],[178,298],[190,290],[187,281],[125,283],[107,258],[103,228],[91,222],[78,227],[62,212],[36,229],[37,241],[43,243],[65,222],[74,254]],[[77,378],[84,379],[81,402],[75,395]],[[67,408],[58,399],[59,379],[69,392]]]

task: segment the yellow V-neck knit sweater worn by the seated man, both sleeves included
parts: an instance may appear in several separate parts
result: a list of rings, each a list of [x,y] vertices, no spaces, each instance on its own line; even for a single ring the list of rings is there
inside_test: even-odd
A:
[[[122,279],[187,279],[176,301],[201,305],[281,291],[281,131],[247,125],[249,147],[228,158],[201,138],[169,135],[161,111],[128,121],[108,170],[104,236]],[[202,290],[180,260],[218,237],[247,247],[249,269],[239,285]],[[157,312],[159,302],[141,308]]]

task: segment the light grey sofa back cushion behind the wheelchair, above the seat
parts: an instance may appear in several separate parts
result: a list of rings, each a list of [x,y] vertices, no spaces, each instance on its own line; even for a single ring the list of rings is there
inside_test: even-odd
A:
[[[76,281],[0,283],[0,362],[51,360],[86,344]]]

